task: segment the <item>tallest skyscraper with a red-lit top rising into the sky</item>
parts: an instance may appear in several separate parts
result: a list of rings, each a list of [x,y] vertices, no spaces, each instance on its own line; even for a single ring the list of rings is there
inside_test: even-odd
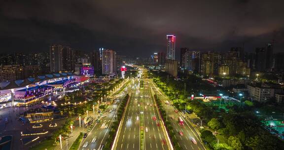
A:
[[[176,58],[176,36],[167,35],[167,58],[175,60]]]

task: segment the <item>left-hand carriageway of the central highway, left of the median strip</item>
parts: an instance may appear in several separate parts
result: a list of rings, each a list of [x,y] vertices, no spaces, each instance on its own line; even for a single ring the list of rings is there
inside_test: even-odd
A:
[[[120,131],[122,134],[118,136],[115,150],[126,150],[127,147],[128,149],[133,149],[133,147],[135,149],[135,145],[139,147],[139,122],[134,121],[134,119],[136,118],[135,115],[139,114],[140,111],[137,109],[138,104],[135,99],[139,98],[132,95],[128,107],[126,108],[126,113]]]

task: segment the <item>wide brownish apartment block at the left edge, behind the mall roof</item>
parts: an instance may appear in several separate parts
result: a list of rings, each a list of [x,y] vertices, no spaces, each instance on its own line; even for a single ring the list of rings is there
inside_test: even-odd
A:
[[[24,79],[21,65],[0,65],[0,82]]]

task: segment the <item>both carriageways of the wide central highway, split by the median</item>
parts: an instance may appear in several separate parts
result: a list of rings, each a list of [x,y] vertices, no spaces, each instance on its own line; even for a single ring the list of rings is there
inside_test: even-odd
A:
[[[132,90],[114,150],[139,150],[140,129],[144,131],[144,150],[169,150],[170,142],[166,140],[166,131],[161,128],[149,84],[145,83],[141,89],[139,81],[136,80],[132,83]],[[144,126],[140,123],[141,113]]]

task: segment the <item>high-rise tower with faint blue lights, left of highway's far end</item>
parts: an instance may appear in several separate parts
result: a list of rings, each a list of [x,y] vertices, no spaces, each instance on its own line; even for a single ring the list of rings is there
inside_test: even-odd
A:
[[[116,52],[110,49],[103,50],[102,55],[103,75],[116,74]]]

